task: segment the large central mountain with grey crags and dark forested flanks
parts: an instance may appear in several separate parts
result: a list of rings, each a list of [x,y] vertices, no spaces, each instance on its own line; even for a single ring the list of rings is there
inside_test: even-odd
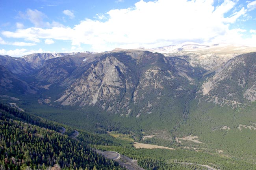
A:
[[[202,76],[200,71],[193,72],[185,60],[170,61],[160,53],[148,51],[102,53],[94,59],[76,69],[82,74],[68,79],[73,83],[56,102],[98,106],[134,117],[142,113],[170,114],[168,106],[173,112],[179,111],[175,117],[182,117],[184,104],[195,93],[196,79]],[[77,71],[72,74],[78,75]]]

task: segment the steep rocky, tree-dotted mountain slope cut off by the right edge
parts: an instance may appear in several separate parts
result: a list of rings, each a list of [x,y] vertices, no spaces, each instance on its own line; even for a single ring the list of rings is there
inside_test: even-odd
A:
[[[256,101],[256,53],[239,55],[206,80],[202,93],[217,104],[242,104]]]

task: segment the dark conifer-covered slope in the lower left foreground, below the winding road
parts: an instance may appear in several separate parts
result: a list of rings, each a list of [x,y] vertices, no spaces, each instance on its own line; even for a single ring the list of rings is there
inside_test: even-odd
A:
[[[57,123],[0,104],[0,124],[2,169],[124,169],[93,152],[85,142],[60,133]],[[86,137],[87,141],[97,141],[93,135]]]

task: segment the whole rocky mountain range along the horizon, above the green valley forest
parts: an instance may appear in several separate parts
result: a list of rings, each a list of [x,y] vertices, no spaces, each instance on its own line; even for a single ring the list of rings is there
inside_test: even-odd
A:
[[[55,102],[78,106],[98,104],[103,110],[115,110],[125,115],[132,112],[131,106],[138,109],[136,104],[143,105],[135,111],[139,111],[137,114],[142,110],[150,112],[146,109],[150,107],[145,107],[154,103],[146,99],[149,94],[161,101],[165,95],[184,93],[186,96],[192,90],[202,91],[204,97],[208,95],[211,100],[232,101],[230,99],[235,93],[218,93],[219,85],[227,80],[231,84],[226,82],[226,87],[237,84],[239,97],[236,98],[239,100],[234,102],[240,103],[242,98],[255,101],[254,53],[246,54],[252,51],[256,49],[234,44],[190,43],[149,50],[114,49],[98,54],[88,51],[35,53],[21,58],[1,55],[1,88],[7,87],[8,83],[10,87],[17,85],[17,82],[26,84],[20,87],[24,94],[38,92],[36,89],[44,87],[63,87],[65,90],[60,91]],[[232,75],[237,75],[237,79],[233,79]],[[30,81],[27,81],[28,77]],[[223,90],[227,91],[226,88]],[[4,91],[5,94],[9,92]],[[217,97],[220,95],[225,97]],[[110,102],[110,99],[118,101],[115,109],[112,109],[113,101]]]

